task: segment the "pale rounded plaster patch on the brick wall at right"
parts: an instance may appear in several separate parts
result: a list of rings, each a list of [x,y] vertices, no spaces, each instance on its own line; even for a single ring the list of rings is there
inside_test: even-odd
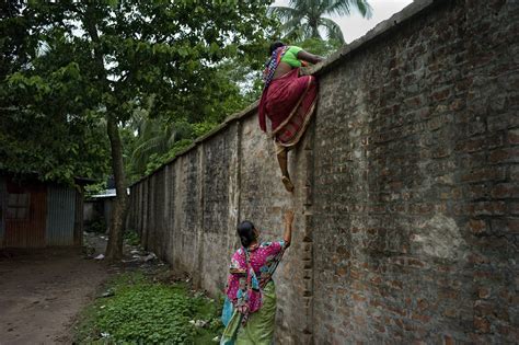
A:
[[[419,253],[457,260],[464,256],[466,243],[454,219],[436,215],[418,225],[419,233],[413,237]]]

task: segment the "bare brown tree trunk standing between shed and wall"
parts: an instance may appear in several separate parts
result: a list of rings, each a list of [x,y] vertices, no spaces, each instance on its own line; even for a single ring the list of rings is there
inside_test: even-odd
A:
[[[123,233],[125,230],[126,212],[128,210],[128,194],[126,193],[126,179],[123,163],[123,145],[120,142],[117,122],[112,114],[106,116],[109,146],[112,149],[112,170],[114,172],[115,189],[117,196],[112,208],[109,220],[108,245],[106,246],[107,260],[123,257]]]

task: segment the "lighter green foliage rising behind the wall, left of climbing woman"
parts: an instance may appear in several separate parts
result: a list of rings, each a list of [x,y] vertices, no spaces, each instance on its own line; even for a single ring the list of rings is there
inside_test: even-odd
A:
[[[272,23],[275,26],[277,23]],[[189,115],[186,110],[182,118],[150,116],[148,111],[136,112],[129,122],[125,136],[127,147],[127,172],[129,181],[137,181],[155,168],[170,161],[178,147],[185,148],[197,137],[211,130],[226,117],[238,113],[256,101],[263,88],[261,71],[266,58],[269,42],[247,45],[243,51],[237,51],[207,71],[211,77],[204,116]],[[178,141],[181,143],[177,143]]]

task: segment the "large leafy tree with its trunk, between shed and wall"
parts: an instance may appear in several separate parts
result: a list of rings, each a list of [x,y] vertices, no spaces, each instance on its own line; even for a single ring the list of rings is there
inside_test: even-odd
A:
[[[189,123],[218,115],[215,68],[263,46],[269,2],[31,1],[19,8],[34,50],[7,77],[10,94],[31,87],[16,102],[34,116],[51,104],[49,116],[106,128],[117,191],[107,258],[122,256],[128,206],[122,134],[131,115],[146,110],[149,117]]]

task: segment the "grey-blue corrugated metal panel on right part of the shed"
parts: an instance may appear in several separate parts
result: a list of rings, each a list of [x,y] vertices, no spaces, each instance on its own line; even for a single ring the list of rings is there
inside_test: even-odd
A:
[[[47,245],[74,244],[76,193],[71,187],[47,187]]]

